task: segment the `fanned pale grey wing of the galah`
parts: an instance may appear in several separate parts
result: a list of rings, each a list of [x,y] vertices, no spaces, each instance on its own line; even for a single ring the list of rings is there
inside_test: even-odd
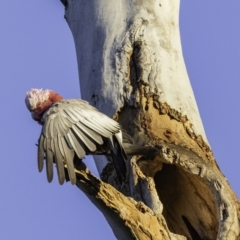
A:
[[[56,163],[59,183],[65,181],[64,164],[72,184],[76,183],[73,158],[82,159],[94,153],[104,138],[110,139],[120,132],[120,125],[83,100],[61,100],[43,116],[42,132],[38,144],[38,169],[41,172],[46,159],[48,181],[53,179]]]

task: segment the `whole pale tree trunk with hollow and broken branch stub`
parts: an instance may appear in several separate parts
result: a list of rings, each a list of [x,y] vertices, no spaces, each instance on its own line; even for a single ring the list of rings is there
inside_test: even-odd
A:
[[[128,161],[119,186],[106,157],[102,181],[77,186],[118,239],[238,239],[239,203],[207,141],[186,72],[177,0],[62,0],[76,45],[81,95],[159,154]],[[110,184],[107,184],[110,183]]]

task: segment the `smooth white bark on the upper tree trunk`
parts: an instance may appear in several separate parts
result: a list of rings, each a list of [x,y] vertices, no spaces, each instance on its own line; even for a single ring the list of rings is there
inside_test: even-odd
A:
[[[78,58],[81,95],[113,116],[138,102],[129,83],[129,55],[141,42],[141,79],[149,92],[187,115],[194,132],[207,138],[184,64],[179,34],[179,0],[69,1],[66,19]],[[107,106],[107,107],[106,107]]]

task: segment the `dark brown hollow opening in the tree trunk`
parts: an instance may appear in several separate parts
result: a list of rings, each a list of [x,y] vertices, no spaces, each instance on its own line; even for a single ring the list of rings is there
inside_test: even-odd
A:
[[[175,165],[164,164],[154,181],[171,232],[193,240],[217,239],[217,208],[202,178]]]

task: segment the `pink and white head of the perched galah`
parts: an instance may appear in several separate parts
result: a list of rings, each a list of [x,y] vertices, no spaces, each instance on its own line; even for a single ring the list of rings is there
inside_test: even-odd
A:
[[[32,88],[26,94],[25,104],[28,110],[31,112],[33,120],[37,121],[40,124],[43,124],[41,122],[41,118],[44,112],[49,109],[55,102],[62,99],[63,97],[52,90]]]

